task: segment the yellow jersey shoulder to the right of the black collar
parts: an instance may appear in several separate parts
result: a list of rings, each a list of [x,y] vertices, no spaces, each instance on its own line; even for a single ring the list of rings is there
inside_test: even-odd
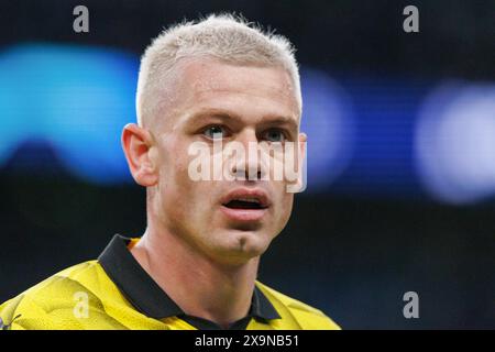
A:
[[[284,295],[260,282],[256,286],[272,302],[280,315],[280,323],[287,323],[287,329],[307,330],[340,330],[341,328],[320,309],[311,307],[300,300]],[[282,327],[284,328],[284,327]]]

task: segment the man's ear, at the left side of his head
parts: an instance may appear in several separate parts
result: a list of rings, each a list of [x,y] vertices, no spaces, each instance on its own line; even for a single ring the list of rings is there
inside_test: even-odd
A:
[[[129,123],[122,131],[122,148],[134,180],[144,187],[158,182],[158,167],[155,157],[156,145],[150,131],[135,123]]]

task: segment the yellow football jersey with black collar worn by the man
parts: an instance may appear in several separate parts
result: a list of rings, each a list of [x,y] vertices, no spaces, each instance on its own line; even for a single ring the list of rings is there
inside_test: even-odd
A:
[[[66,268],[0,306],[3,329],[220,329],[187,316],[135,261],[139,239],[116,235],[97,261]],[[340,329],[320,310],[256,282],[237,330]]]

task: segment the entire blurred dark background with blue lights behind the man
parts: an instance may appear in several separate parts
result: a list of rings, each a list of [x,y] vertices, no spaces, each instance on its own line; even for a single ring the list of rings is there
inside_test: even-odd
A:
[[[277,29],[301,66],[308,188],[261,279],[348,329],[495,328],[493,1],[0,1],[0,301],[143,232],[120,147],[139,58],[213,11]]]

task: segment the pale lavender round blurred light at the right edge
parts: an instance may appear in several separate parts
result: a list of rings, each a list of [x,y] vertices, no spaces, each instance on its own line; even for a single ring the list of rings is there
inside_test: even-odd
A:
[[[416,164],[430,195],[462,205],[495,195],[495,86],[450,81],[426,99]]]

